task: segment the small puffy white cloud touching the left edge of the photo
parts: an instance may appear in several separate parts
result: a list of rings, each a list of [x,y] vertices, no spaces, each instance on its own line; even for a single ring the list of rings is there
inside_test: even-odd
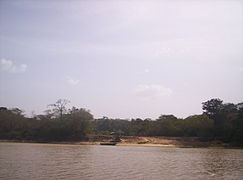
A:
[[[11,60],[7,59],[1,59],[0,60],[0,70],[6,71],[10,73],[23,73],[27,69],[26,64],[21,64],[19,66],[16,66]]]

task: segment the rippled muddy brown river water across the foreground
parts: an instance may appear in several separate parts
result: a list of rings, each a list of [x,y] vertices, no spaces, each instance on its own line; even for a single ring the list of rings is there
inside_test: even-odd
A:
[[[0,143],[0,179],[242,179],[243,150]]]

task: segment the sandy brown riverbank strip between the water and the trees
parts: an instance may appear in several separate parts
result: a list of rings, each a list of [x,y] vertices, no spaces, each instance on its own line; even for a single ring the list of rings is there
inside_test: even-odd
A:
[[[90,135],[85,141],[33,141],[33,140],[0,140],[0,142],[19,143],[48,143],[71,145],[100,145],[112,140],[110,135]],[[221,141],[200,141],[197,137],[143,137],[122,136],[117,146],[146,146],[146,147],[180,147],[180,148],[242,148]]]

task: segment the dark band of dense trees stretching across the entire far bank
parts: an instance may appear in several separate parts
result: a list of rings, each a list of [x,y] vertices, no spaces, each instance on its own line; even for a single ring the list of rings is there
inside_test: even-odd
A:
[[[88,140],[90,134],[119,132],[126,136],[198,137],[242,145],[243,103],[211,99],[202,103],[203,113],[185,119],[161,115],[152,119],[94,119],[89,110],[67,109],[68,100],[49,105],[44,115],[31,118],[18,108],[0,108],[0,139],[49,141]]]

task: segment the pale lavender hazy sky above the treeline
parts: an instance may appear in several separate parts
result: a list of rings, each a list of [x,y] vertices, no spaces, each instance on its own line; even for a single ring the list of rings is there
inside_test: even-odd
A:
[[[0,106],[184,118],[243,101],[243,1],[0,1]]]

